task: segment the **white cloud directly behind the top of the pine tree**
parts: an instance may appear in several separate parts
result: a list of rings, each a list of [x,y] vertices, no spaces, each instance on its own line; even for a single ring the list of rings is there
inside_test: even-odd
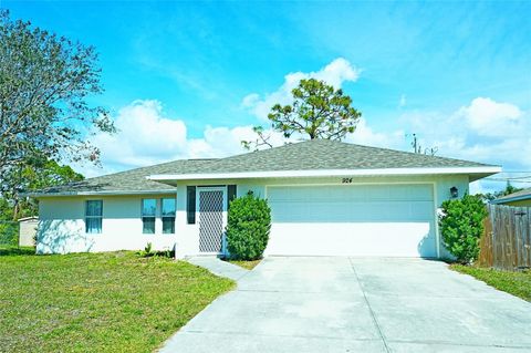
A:
[[[261,97],[258,93],[251,93],[243,97],[241,106],[251,114],[266,121],[271,107],[279,103],[282,105],[292,102],[291,91],[303,79],[316,79],[339,89],[344,82],[354,82],[358,79],[361,70],[354,68],[347,60],[337,58],[316,72],[292,72],[284,76],[284,83],[274,92]]]

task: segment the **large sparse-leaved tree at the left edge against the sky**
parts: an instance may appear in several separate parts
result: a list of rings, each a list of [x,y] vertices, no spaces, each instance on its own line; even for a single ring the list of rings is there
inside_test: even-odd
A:
[[[91,104],[103,92],[93,46],[0,10],[0,179],[34,156],[97,162],[91,136],[115,131]]]

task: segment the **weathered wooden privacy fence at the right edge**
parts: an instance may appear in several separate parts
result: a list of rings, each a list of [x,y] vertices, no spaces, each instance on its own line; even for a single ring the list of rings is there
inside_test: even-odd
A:
[[[488,205],[480,239],[480,266],[503,270],[531,268],[531,208]]]

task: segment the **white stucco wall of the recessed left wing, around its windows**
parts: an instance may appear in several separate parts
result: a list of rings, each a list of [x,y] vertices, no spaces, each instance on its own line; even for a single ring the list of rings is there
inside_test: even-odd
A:
[[[163,233],[160,198],[176,195],[54,197],[39,203],[38,253],[139,250],[152,242],[156,250],[173,249],[175,235]],[[142,199],[157,199],[155,233],[143,233]],[[101,233],[85,233],[85,201],[103,200]]]

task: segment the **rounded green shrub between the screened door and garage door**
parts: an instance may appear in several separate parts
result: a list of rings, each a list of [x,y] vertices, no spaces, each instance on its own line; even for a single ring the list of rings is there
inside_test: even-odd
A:
[[[236,260],[260,259],[268,246],[271,209],[252,193],[230,203],[227,221],[227,250]]]

